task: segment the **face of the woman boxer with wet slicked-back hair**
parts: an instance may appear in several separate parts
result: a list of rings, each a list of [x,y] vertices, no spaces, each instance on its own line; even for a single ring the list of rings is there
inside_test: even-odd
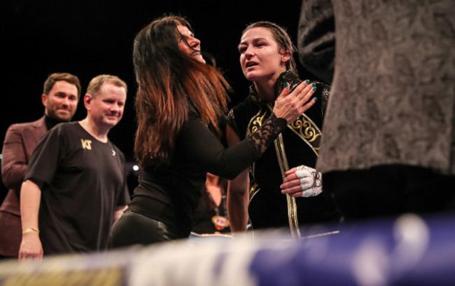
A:
[[[265,27],[248,29],[239,43],[240,65],[248,81],[276,80],[290,59]]]

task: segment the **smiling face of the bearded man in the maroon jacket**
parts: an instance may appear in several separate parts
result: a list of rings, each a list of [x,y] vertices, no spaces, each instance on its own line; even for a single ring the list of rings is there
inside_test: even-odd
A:
[[[48,95],[41,95],[45,114],[57,121],[70,121],[78,107],[78,88],[67,81],[56,81]]]

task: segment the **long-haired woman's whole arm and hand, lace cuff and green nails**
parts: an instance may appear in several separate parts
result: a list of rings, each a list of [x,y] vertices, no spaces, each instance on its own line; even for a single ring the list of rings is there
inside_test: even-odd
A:
[[[223,147],[198,114],[190,112],[188,123],[179,134],[179,149],[185,150],[189,161],[207,172],[234,179],[265,152],[288,123],[314,104],[312,100],[307,102],[314,93],[312,88],[307,83],[301,83],[289,95],[289,88],[284,88],[275,102],[274,113],[253,135],[228,149]]]

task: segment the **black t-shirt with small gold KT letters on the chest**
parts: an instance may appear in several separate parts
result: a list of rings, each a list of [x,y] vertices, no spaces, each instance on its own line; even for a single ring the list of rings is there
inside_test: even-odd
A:
[[[25,179],[41,186],[44,254],[106,248],[116,207],[130,200],[123,153],[78,122],[61,123],[41,138]]]

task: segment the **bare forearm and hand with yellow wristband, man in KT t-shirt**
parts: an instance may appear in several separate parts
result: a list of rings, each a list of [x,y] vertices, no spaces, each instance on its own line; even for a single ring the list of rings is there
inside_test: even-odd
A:
[[[41,204],[41,189],[27,179],[20,189],[20,216],[22,220],[22,242],[19,261],[42,259],[43,246],[39,239],[38,212]]]

